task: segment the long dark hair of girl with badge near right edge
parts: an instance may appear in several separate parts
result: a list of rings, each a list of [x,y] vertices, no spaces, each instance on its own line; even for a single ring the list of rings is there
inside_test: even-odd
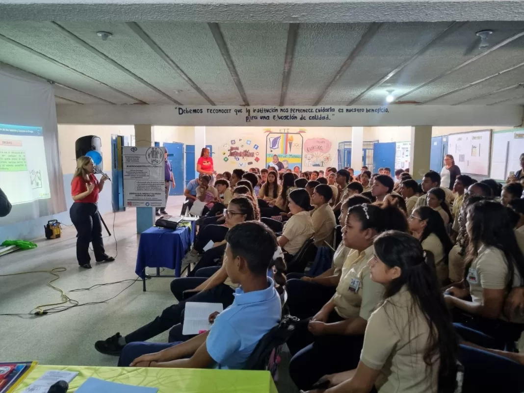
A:
[[[465,258],[466,267],[464,278],[471,267],[471,264],[478,256],[478,249],[482,245],[495,247],[504,254],[506,267],[508,269],[508,280],[506,290],[509,293],[517,269],[521,279],[524,278],[524,256],[517,244],[513,225],[509,218],[506,208],[495,201],[480,201],[472,204],[468,209],[467,226],[471,234],[470,242],[467,245]]]

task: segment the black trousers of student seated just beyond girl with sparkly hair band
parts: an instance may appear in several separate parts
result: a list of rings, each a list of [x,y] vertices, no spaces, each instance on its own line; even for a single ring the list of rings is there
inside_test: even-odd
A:
[[[314,316],[335,294],[336,287],[326,287],[316,282],[308,282],[293,278],[298,273],[290,273],[286,277],[287,305],[289,313],[299,319]],[[289,279],[291,277],[291,279]]]

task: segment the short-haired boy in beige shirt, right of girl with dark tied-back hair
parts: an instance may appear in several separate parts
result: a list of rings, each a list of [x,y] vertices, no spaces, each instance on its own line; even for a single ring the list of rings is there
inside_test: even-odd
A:
[[[320,184],[315,187],[311,203],[315,206],[315,210],[311,213],[311,220],[313,221],[315,245],[317,247],[323,246],[324,241],[328,244],[333,243],[333,230],[336,226],[335,213],[329,205],[329,201],[333,198],[333,192],[329,185]]]

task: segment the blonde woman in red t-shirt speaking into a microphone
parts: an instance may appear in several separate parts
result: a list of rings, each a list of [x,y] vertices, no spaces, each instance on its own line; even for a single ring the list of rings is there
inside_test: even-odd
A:
[[[98,194],[104,188],[107,180],[105,176],[96,180],[94,176],[95,165],[90,157],[79,157],[77,169],[71,181],[71,195],[73,205],[69,215],[75,228],[77,228],[77,259],[78,264],[84,269],[91,269],[89,256],[89,243],[93,244],[93,251],[97,262],[111,262],[115,258],[108,256],[102,241],[102,222],[98,211]]]

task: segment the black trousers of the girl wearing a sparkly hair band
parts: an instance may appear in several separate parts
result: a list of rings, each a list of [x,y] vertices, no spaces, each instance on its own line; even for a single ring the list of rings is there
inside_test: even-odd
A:
[[[343,319],[333,311],[328,323]],[[288,340],[293,357],[289,376],[299,389],[309,390],[326,374],[341,373],[357,367],[360,361],[364,335],[324,334],[313,336],[308,325],[300,325]],[[296,348],[301,349],[296,352]]]

